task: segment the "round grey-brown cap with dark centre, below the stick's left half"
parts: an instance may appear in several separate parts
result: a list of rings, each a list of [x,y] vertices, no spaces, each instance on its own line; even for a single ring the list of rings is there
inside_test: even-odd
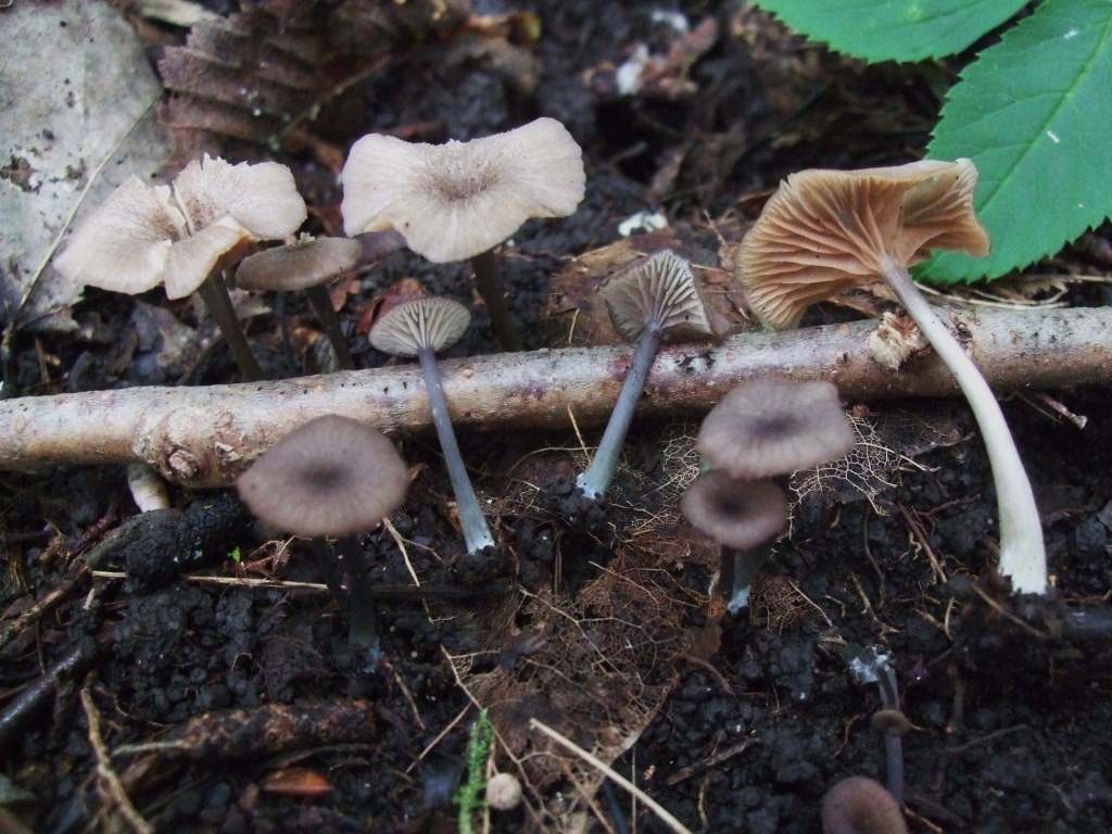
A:
[[[326,415],[282,437],[236,486],[271,527],[298,536],[351,536],[401,506],[409,469],[370,426]]]

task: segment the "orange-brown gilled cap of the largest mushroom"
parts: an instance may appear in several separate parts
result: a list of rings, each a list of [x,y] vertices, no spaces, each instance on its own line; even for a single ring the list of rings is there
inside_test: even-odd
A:
[[[812,304],[878,280],[886,259],[907,267],[931,249],[984,257],[976,180],[969,159],[791,175],[737,250],[749,308],[770,327],[795,327]]]

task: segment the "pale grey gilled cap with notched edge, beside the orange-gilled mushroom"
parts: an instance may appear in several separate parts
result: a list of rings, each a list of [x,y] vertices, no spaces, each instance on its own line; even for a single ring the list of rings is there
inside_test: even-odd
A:
[[[638,258],[610,276],[602,289],[610,321],[636,341],[651,321],[675,339],[714,336],[692,266],[671,249]]]

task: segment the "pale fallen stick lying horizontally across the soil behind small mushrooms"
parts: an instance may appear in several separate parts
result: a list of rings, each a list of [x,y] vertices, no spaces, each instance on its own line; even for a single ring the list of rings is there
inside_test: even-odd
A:
[[[1112,383],[1112,310],[953,314],[996,390]],[[665,348],[641,414],[709,408],[745,379],[777,375],[837,384],[847,400],[952,396],[933,355],[898,371],[878,365],[867,339],[875,321],[781,334],[747,332],[713,347]],[[497,354],[440,364],[459,430],[580,427],[604,423],[631,358],[628,347]],[[231,483],[261,451],[324,414],[366,420],[388,434],[430,426],[416,365],[275,383],[206,388],[131,388],[0,403],[0,468],[145,461],[189,487]]]

